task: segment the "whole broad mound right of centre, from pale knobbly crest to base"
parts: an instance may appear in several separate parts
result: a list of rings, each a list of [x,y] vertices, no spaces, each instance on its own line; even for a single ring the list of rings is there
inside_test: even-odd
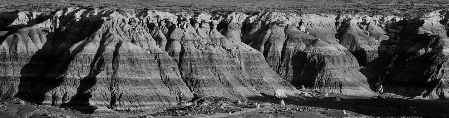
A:
[[[254,19],[264,20],[264,18]],[[273,19],[282,21],[273,21]],[[326,26],[312,26],[312,23],[302,24],[309,27],[308,31],[333,43],[335,45],[333,46],[300,31],[290,21],[295,21],[295,17],[284,15],[284,18],[282,18],[282,16],[273,15],[272,19],[268,19],[268,24],[262,26],[269,28],[261,31],[260,35],[249,43],[251,47],[264,53],[264,57],[272,70],[298,87],[304,85],[311,90],[346,95],[376,95],[370,90],[367,78],[358,71],[360,67],[358,67],[355,57],[346,48],[338,44],[335,38],[331,38],[331,34],[335,33],[335,28],[332,31],[332,28]],[[263,29],[248,27],[251,26],[247,26],[246,29]],[[319,34],[319,32],[322,33]],[[329,35],[326,35],[326,32]],[[316,41],[313,42],[313,40]]]

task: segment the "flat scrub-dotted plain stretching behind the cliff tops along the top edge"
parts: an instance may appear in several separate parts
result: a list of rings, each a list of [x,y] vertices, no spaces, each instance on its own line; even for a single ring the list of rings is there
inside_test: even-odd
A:
[[[233,5],[233,2],[229,2],[229,5],[216,5],[213,3],[194,4],[151,4],[141,3],[136,5],[136,2],[119,3],[114,0],[102,0],[102,2],[93,2],[89,0],[75,1],[47,1],[47,2],[35,2],[29,3],[33,0],[25,0],[21,2],[9,2],[0,4],[0,13],[14,12],[14,11],[38,11],[38,12],[51,12],[56,9],[64,9],[66,7],[82,7],[88,9],[112,9],[120,12],[133,11],[136,14],[145,13],[147,10],[161,10],[171,13],[199,13],[199,12],[229,12],[236,11],[242,13],[258,13],[261,11],[282,11],[285,13],[296,14],[347,14],[347,13],[361,13],[367,15],[396,15],[401,17],[418,17],[426,15],[434,10],[449,9],[449,4],[440,0],[421,0],[415,2],[398,2],[400,0],[377,0],[376,2],[368,2],[361,0],[362,2],[354,3],[348,2],[351,0],[339,0],[339,1],[325,1],[321,0],[308,0],[315,2],[308,2],[307,4],[288,4],[289,1],[280,0],[276,4],[240,4]],[[40,0],[37,0],[40,1]],[[108,3],[108,1],[111,1]],[[138,0],[137,0],[138,1]],[[202,0],[195,0],[202,1]],[[253,0],[245,0],[246,3],[251,3]],[[142,2],[142,1],[140,1]],[[260,1],[258,1],[260,2]],[[290,1],[291,2],[291,1]],[[138,2],[137,2],[138,3]],[[245,3],[245,2],[244,2]],[[297,3],[297,2],[292,2]]]

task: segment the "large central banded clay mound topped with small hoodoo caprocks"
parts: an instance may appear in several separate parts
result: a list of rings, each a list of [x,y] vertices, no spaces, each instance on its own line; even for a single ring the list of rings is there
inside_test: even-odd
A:
[[[154,13],[159,12],[149,12],[145,17],[134,19],[136,22],[131,24],[149,27],[150,34],[167,29],[165,50],[174,58],[181,77],[195,94],[257,99],[263,95],[273,96],[277,89],[286,90],[289,96],[299,93],[270,70],[262,53],[240,40],[222,35],[223,30],[221,33],[217,30],[218,21],[210,24],[210,19],[201,19],[211,17],[204,14],[192,17],[188,14]],[[242,20],[241,17],[231,17],[237,20],[228,20],[227,17],[218,15],[215,19],[227,23]],[[155,28],[156,24],[158,28]],[[162,24],[163,27],[160,27]]]

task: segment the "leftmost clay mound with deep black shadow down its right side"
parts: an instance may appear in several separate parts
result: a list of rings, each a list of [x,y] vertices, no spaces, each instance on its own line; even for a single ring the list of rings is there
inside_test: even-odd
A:
[[[73,13],[66,14],[67,12]],[[26,95],[52,68],[53,61],[63,52],[61,50],[70,48],[67,45],[75,44],[96,30],[93,27],[97,26],[97,20],[91,19],[90,23],[82,25],[82,27],[80,22],[109,14],[107,10],[101,10],[100,12],[103,14],[99,16],[85,16],[86,18],[83,19],[79,19],[79,15],[75,17],[76,14],[92,14],[93,12],[92,10],[73,8],[58,10],[52,14],[51,18],[35,26],[8,33],[11,35],[4,35],[1,44],[3,48],[0,52],[9,56],[0,57],[4,60],[1,64],[7,67],[0,72],[2,75],[0,80],[8,83],[2,86],[3,93],[0,94],[0,98],[12,97],[17,93]],[[73,24],[67,25],[67,21],[72,19],[74,19]],[[32,19],[22,19],[22,21],[32,21]],[[28,26],[28,24],[20,26]]]

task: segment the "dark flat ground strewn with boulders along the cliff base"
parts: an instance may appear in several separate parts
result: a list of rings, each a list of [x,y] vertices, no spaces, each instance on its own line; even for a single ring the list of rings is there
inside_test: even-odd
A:
[[[336,101],[340,96],[341,101]],[[191,105],[185,108],[155,108],[140,111],[116,111],[116,114],[84,114],[76,109],[45,107],[19,98],[0,101],[0,118],[448,118],[448,101],[421,101],[401,98],[391,93],[375,97],[330,94],[324,99],[308,97],[306,101],[284,99],[265,101],[236,100]],[[255,108],[254,103],[264,103]],[[219,104],[229,103],[225,106]],[[165,110],[164,110],[165,109]],[[343,114],[345,110],[346,114]]]

